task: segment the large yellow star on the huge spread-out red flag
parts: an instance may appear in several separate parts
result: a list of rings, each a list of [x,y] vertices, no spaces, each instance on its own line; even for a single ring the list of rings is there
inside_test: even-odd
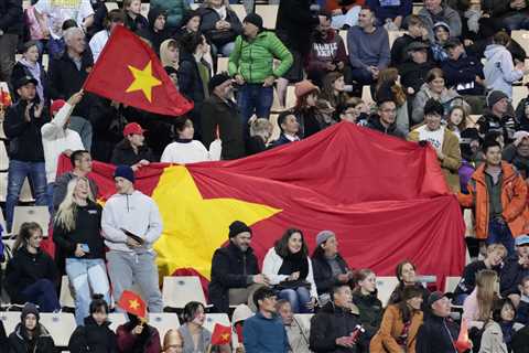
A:
[[[282,211],[236,199],[204,200],[183,165],[164,170],[152,197],[163,220],[163,234],[154,244],[161,276],[194,268],[209,279],[213,254],[228,239],[231,222],[251,226]]]

